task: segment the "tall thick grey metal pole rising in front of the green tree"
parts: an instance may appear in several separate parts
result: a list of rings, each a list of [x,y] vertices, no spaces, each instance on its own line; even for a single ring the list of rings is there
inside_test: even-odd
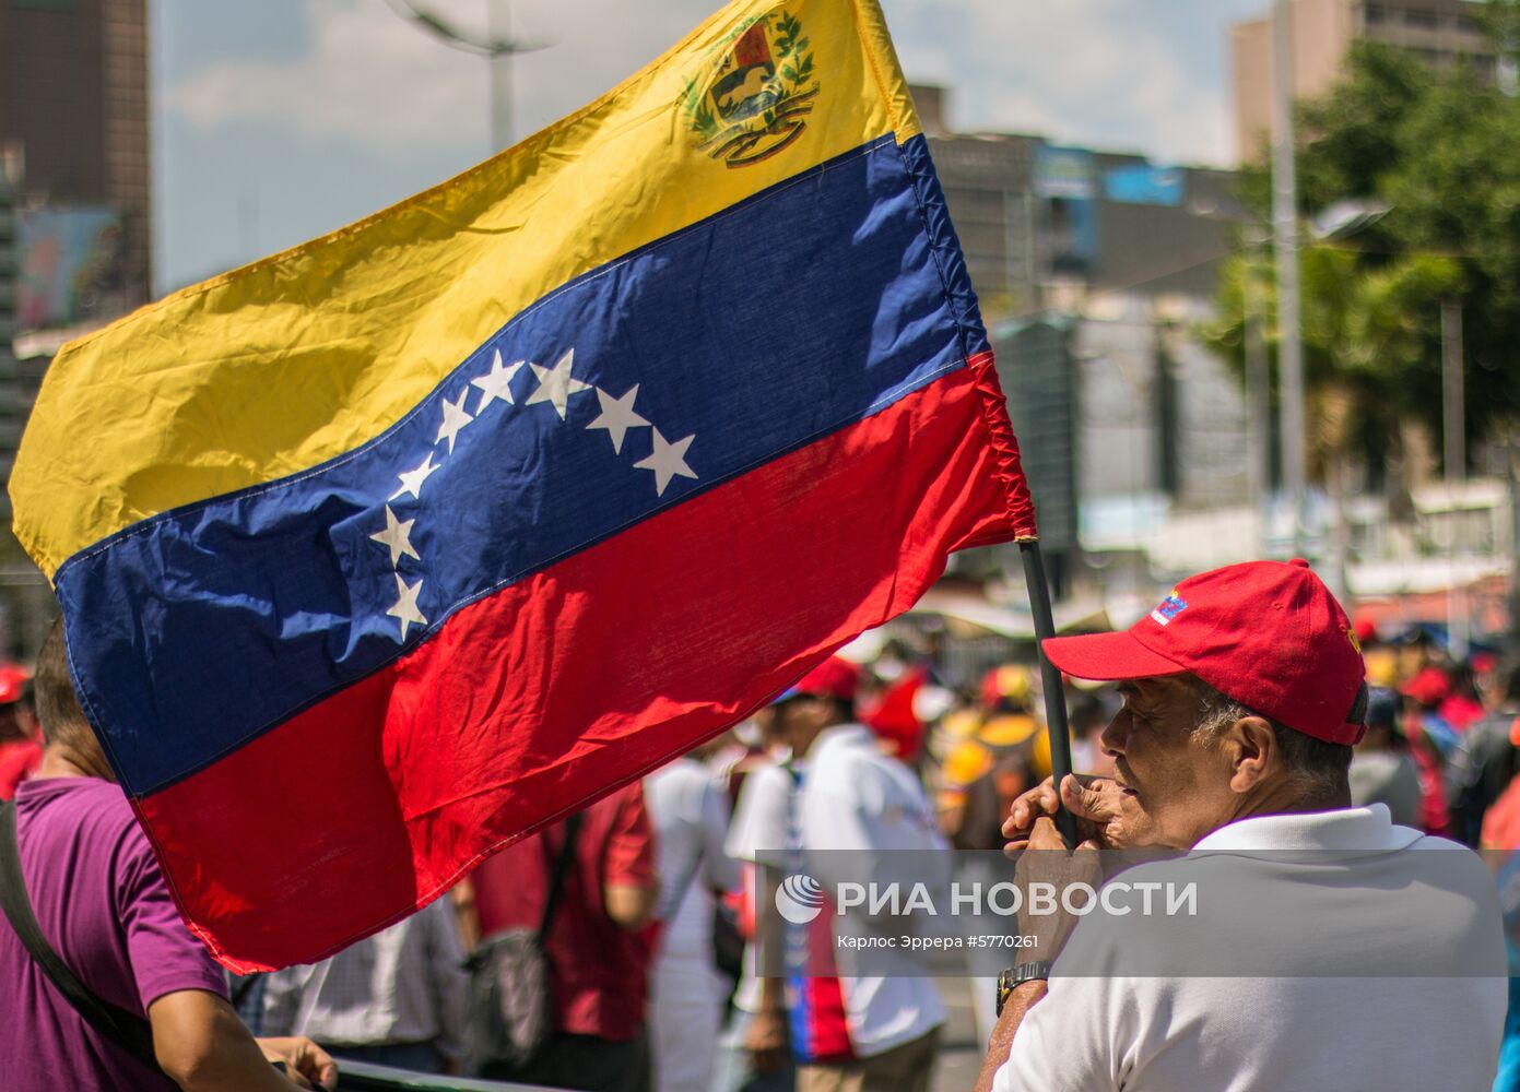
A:
[[[1298,328],[1298,181],[1294,163],[1292,0],[1272,9],[1272,226],[1283,380],[1283,486],[1294,515],[1294,554],[1304,553],[1304,346]]]

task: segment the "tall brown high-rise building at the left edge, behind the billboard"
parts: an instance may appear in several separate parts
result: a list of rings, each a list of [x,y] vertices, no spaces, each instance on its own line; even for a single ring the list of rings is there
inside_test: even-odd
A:
[[[9,533],[58,343],[149,298],[147,0],[0,0],[0,659],[56,604]]]

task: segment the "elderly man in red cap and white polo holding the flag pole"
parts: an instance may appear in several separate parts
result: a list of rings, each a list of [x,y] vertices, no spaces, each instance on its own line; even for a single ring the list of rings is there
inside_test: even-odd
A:
[[[1005,972],[979,1090],[1488,1089],[1505,1015],[1493,884],[1453,843],[1351,806],[1362,658],[1306,562],[1204,573],[1125,633],[1044,650],[1122,680],[1102,735],[1117,772],[1061,785],[1084,840],[1070,857],[1055,788],[1015,802],[1009,847],[1052,851],[1018,872],[1189,881],[1196,913],[1090,914],[1053,969]],[[1114,876],[1090,852],[1135,847],[1176,855]]]

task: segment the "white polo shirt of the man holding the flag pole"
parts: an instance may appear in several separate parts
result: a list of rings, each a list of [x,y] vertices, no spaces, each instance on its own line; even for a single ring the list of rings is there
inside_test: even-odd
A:
[[[994,1092],[1488,1092],[1506,981],[1474,854],[1373,805],[1240,820],[1119,875],[1142,876],[1196,879],[1199,914],[1084,917]],[[1231,908],[1210,913],[1219,892]],[[1187,977],[1128,974],[1148,958]],[[1439,977],[1452,961],[1485,972]],[[1406,967],[1421,977],[1379,977]]]

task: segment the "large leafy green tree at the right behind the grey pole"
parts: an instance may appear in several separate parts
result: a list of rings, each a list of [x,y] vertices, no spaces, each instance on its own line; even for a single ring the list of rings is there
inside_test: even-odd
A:
[[[1505,0],[1490,17],[1500,49],[1520,41],[1520,5]],[[1303,252],[1313,462],[1324,465],[1338,436],[1348,451],[1386,457],[1404,421],[1439,437],[1439,307],[1447,299],[1464,316],[1468,437],[1512,430],[1520,419],[1520,99],[1471,67],[1433,71],[1404,52],[1362,44],[1336,88],[1300,105],[1298,140],[1306,219],[1339,200],[1391,207],[1354,238]],[[1265,220],[1265,166],[1246,172],[1242,191]],[[1242,249],[1221,281],[1221,319],[1205,331],[1237,363],[1245,264]],[[1268,296],[1269,286],[1265,278]],[[1275,345],[1271,323],[1268,340]],[[1335,415],[1347,425],[1327,431],[1325,412],[1336,404],[1350,407]]]

